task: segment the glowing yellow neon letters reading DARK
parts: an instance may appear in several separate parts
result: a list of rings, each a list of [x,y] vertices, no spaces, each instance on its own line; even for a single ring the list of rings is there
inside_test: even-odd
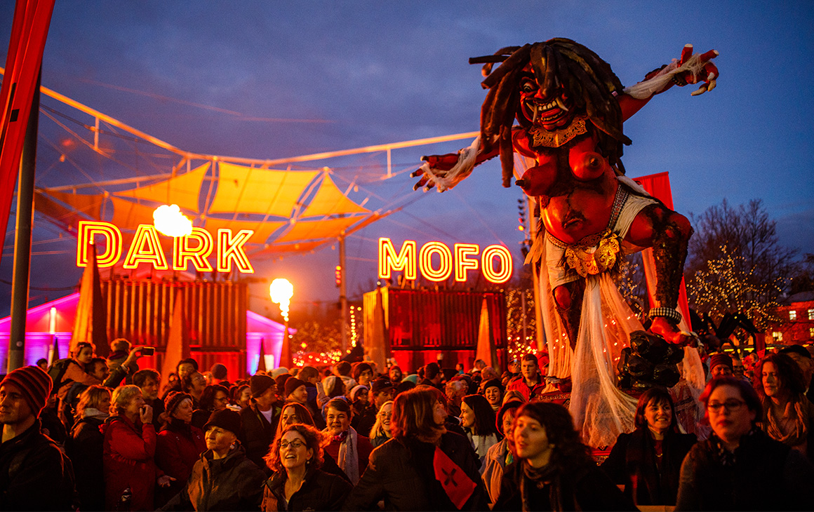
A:
[[[243,245],[252,237],[254,231],[217,230],[217,271],[231,272],[232,265],[242,274],[254,274]],[[77,236],[77,267],[88,265],[88,244],[104,238],[105,250],[96,258],[99,268],[112,267],[121,258],[122,234],[116,225],[101,221],[80,221]],[[173,270],[186,270],[191,263],[199,272],[212,272],[212,265],[207,258],[216,248],[212,234],[201,228],[192,228],[187,236],[173,238]],[[167,270],[169,265],[164,257],[158,232],[149,224],[138,225],[133,242],[127,250],[125,269],[135,269],[139,264],[152,265],[157,270]]]

